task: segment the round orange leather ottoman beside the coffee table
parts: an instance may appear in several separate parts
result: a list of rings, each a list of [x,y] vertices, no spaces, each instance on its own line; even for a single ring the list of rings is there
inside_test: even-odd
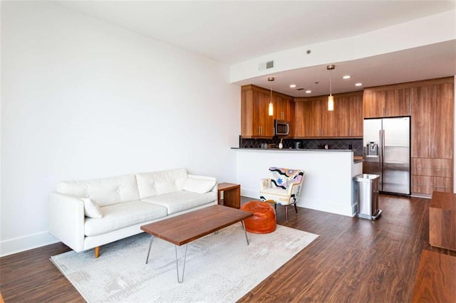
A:
[[[254,216],[244,220],[245,230],[249,233],[272,233],[276,230],[276,211],[268,203],[250,201],[245,203],[241,209],[254,213]]]

